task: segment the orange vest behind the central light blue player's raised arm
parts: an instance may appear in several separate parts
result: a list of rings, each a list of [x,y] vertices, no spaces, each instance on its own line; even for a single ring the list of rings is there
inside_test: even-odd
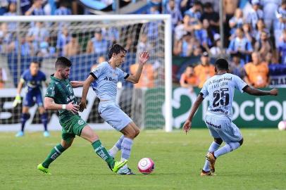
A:
[[[130,65],[130,74],[135,75],[138,67],[139,63]],[[148,88],[148,89],[153,88],[154,80],[156,79],[157,76],[158,72],[154,70],[153,65],[151,63],[145,63],[139,82],[137,84],[134,84],[134,87]]]

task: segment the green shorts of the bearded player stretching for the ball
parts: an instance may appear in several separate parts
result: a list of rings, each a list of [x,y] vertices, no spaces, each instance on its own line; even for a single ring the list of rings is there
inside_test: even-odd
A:
[[[60,121],[61,124],[61,137],[65,141],[75,138],[75,135],[80,136],[83,127],[87,125],[87,122],[80,118],[80,115],[73,115],[70,120]]]

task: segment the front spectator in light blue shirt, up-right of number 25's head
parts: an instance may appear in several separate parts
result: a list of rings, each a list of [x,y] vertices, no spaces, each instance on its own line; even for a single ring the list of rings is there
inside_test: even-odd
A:
[[[253,49],[251,46],[251,42],[244,37],[244,32],[241,28],[237,28],[236,35],[234,39],[230,41],[230,45],[228,46],[228,52],[233,53],[241,53],[242,59],[245,63],[249,61],[249,55],[252,53]]]

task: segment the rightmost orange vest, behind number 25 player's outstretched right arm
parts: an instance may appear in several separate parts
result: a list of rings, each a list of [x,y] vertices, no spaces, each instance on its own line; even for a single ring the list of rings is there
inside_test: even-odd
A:
[[[254,63],[250,62],[244,65],[244,69],[247,72],[250,85],[253,85],[255,88],[267,86],[269,72],[267,63],[261,62],[258,65],[254,65]]]

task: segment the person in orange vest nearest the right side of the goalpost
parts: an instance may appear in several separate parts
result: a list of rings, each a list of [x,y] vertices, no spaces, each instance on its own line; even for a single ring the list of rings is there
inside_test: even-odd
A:
[[[180,77],[181,87],[188,88],[189,91],[193,92],[193,87],[197,87],[198,82],[198,77],[194,75],[194,66],[188,65]]]

